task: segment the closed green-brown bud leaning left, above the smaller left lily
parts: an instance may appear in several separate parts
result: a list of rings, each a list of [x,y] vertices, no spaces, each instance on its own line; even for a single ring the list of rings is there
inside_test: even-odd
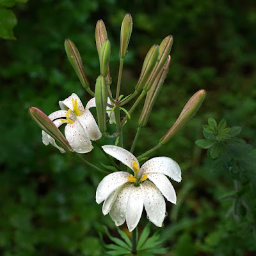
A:
[[[69,39],[65,40],[64,45],[65,45],[65,51],[68,56],[68,60],[70,61],[72,67],[76,71],[76,74],[79,80],[81,81],[83,88],[85,90],[90,88],[88,78],[84,72],[83,61],[81,59],[79,51],[77,50],[76,45],[74,45],[74,43]]]

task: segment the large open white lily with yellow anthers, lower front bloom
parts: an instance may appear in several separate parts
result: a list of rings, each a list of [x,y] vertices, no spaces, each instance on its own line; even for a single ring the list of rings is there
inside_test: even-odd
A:
[[[102,148],[134,172],[134,175],[113,172],[101,180],[96,191],[96,202],[100,204],[104,201],[103,214],[109,213],[116,226],[126,220],[131,232],[138,225],[144,206],[148,219],[161,227],[165,216],[164,197],[176,204],[175,190],[166,176],[180,182],[179,164],[169,157],[154,157],[140,168],[138,159],[124,148],[113,145]]]

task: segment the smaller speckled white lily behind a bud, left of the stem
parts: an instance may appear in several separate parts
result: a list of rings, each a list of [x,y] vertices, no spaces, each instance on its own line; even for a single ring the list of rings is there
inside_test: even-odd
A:
[[[51,113],[49,118],[57,127],[67,124],[65,127],[65,137],[75,152],[90,152],[93,149],[91,140],[94,141],[101,138],[99,127],[89,110],[96,106],[95,98],[89,100],[84,108],[76,93],[72,93],[67,99],[59,101],[59,105],[61,110]],[[59,147],[56,141],[44,131],[42,131],[42,140],[44,145],[51,143],[61,153],[65,153],[65,150]]]

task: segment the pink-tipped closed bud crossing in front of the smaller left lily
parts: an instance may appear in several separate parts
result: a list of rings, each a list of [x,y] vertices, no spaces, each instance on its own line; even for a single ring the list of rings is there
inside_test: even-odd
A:
[[[63,136],[61,131],[56,127],[56,125],[52,122],[52,120],[45,115],[40,109],[31,107],[29,108],[29,115],[36,122],[36,124],[44,130],[47,134],[49,134],[54,140],[58,141],[66,151],[74,151],[68,144],[67,139]]]

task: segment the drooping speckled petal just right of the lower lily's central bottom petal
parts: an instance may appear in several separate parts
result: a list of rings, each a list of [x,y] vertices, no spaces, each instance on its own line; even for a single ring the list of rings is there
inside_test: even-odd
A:
[[[141,184],[144,193],[144,206],[148,219],[157,227],[162,227],[165,216],[165,201],[159,189],[150,181]]]

